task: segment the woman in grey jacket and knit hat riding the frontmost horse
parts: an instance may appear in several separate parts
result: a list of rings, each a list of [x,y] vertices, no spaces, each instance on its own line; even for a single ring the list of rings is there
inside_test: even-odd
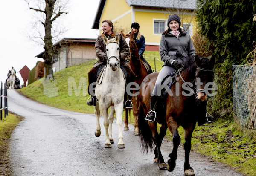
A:
[[[180,28],[180,17],[177,14],[170,14],[167,20],[168,29],[163,32],[160,40],[159,53],[164,62],[163,68],[157,76],[157,80],[151,97],[151,110],[157,104],[161,96],[161,82],[166,75],[171,74],[183,67],[183,63],[190,55],[196,55],[195,47],[190,35]],[[146,120],[154,121],[155,113],[149,113]]]

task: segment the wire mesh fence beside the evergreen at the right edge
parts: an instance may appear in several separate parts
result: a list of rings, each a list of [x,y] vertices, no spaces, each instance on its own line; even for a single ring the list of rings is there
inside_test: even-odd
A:
[[[233,64],[234,120],[256,130],[256,66]]]

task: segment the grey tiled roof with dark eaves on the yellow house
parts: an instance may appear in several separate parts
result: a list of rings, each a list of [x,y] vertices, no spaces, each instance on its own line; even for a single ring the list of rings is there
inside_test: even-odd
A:
[[[129,6],[144,6],[174,9],[196,9],[197,0],[125,0]],[[99,29],[99,20],[106,0],[100,0],[92,29]]]

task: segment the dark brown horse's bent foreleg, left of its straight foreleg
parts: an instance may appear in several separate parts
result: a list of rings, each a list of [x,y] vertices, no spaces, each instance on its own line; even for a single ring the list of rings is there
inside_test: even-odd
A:
[[[170,159],[167,162],[167,170],[173,171],[176,166],[177,150],[180,145],[180,136],[178,133],[178,125],[175,121],[168,122],[169,130],[172,133],[173,149],[172,153],[169,154]]]

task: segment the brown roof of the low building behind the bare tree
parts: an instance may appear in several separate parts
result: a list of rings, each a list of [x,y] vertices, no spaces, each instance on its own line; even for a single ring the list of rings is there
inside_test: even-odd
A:
[[[58,49],[61,47],[61,45],[67,44],[67,43],[95,43],[96,38],[63,38],[62,40],[58,41],[53,45],[55,49]],[[40,54],[36,55],[36,58],[43,58],[44,51]]]

